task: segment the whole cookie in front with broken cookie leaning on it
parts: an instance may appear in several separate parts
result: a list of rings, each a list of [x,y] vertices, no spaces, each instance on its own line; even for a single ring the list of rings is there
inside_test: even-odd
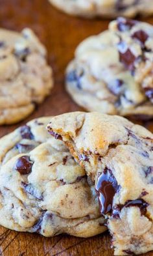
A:
[[[106,230],[91,178],[35,119],[0,139],[0,225],[43,236]]]

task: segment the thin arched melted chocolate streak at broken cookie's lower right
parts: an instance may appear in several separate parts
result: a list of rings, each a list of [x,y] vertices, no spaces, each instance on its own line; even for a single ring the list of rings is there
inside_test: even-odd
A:
[[[113,218],[119,218],[119,214],[124,207],[128,208],[128,207],[134,207],[134,206],[139,207],[141,215],[145,216],[147,214],[148,203],[145,202],[145,200],[143,199],[136,199],[136,200],[129,200],[124,205],[113,206],[113,211],[112,211]]]

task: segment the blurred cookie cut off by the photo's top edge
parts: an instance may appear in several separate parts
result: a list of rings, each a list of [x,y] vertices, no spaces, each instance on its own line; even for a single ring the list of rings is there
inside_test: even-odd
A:
[[[150,0],[49,0],[55,7],[67,14],[93,18],[115,18],[125,16],[132,18],[140,14],[153,14],[153,3]]]

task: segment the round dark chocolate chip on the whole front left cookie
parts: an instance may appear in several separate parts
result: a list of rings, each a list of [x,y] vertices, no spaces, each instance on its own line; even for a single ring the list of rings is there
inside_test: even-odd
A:
[[[19,171],[21,175],[27,175],[32,171],[32,165],[34,163],[30,161],[29,156],[21,156],[16,161],[16,164],[14,165],[14,169],[16,171]]]

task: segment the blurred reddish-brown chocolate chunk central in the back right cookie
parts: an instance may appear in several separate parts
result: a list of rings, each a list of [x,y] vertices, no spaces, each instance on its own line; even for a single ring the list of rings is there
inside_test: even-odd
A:
[[[127,48],[126,43],[119,42],[117,46],[119,50],[119,61],[121,61],[128,70],[134,72],[135,55]]]

